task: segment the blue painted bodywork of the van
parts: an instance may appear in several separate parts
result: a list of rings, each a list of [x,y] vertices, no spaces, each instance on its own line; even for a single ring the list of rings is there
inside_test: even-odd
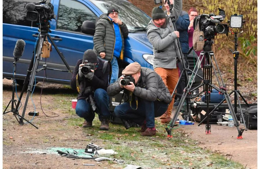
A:
[[[96,15],[97,19],[102,14],[102,12],[90,1],[77,1],[86,5]],[[51,3],[54,6],[54,13],[57,15],[59,0],[51,0]],[[75,64],[78,59],[83,57],[84,51],[93,49],[93,36],[56,29],[57,22],[54,19],[52,19],[50,25],[51,33],[49,33],[49,35],[62,39],[61,41],[55,40],[55,45],[57,45],[57,48],[64,55],[66,62],[74,71]],[[37,40],[37,37],[32,36],[33,34],[38,35],[38,28],[3,23],[3,77],[13,77],[14,47],[18,39],[23,39],[26,45],[23,56],[16,65],[16,78],[25,78],[29,63],[33,58],[33,51]],[[152,45],[147,39],[146,31],[129,33],[128,37],[125,39],[123,61],[126,63],[138,62],[142,67],[153,69],[152,65],[144,60],[142,57],[143,54],[153,54]],[[38,69],[42,68],[43,64],[45,64],[45,58],[40,60]],[[52,48],[51,56],[46,59],[46,64],[47,67],[50,68],[67,70],[55,48]],[[44,81],[61,84],[69,84],[72,77],[71,73],[54,70],[46,70],[46,75],[47,79],[44,79]],[[36,81],[42,81],[43,76],[44,71],[36,73]]]

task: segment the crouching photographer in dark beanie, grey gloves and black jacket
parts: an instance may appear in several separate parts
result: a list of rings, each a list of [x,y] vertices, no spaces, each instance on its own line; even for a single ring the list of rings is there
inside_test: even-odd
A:
[[[77,61],[70,86],[79,92],[76,114],[85,119],[82,127],[92,127],[92,121],[97,113],[101,121],[99,129],[109,129],[111,114],[106,90],[110,67],[109,61],[98,59],[96,52],[91,49],[86,50],[83,59]]]

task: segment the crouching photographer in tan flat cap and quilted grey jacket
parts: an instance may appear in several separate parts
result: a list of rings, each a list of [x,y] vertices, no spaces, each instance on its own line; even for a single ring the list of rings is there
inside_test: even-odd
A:
[[[129,92],[129,101],[116,106],[115,116],[122,119],[126,128],[131,127],[129,121],[142,125],[142,136],[155,135],[154,118],[167,110],[172,100],[169,90],[157,73],[141,67],[137,62],[129,64],[122,74],[120,79],[107,87],[109,96],[122,90]]]

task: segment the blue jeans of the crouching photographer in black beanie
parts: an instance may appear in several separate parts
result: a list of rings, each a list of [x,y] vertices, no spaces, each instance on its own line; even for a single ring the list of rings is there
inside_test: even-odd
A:
[[[102,117],[109,117],[109,96],[104,89],[96,89],[94,92],[94,99],[96,101],[97,108],[99,110],[99,119]],[[92,113],[90,103],[87,103],[86,99],[79,99],[76,106],[76,114],[79,117],[84,118],[86,121],[93,121],[95,113]]]

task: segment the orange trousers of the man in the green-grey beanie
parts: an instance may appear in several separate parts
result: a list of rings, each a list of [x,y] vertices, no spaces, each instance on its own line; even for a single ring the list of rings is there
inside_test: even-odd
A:
[[[168,88],[170,94],[172,95],[172,92],[177,84],[177,81],[179,79],[179,72],[178,68],[176,69],[166,69],[157,67],[154,69],[154,71],[161,76],[162,80],[164,81],[165,86]],[[172,113],[173,103],[174,103],[174,97],[172,97],[172,102],[170,102],[170,105],[167,109],[167,116],[170,117]]]

